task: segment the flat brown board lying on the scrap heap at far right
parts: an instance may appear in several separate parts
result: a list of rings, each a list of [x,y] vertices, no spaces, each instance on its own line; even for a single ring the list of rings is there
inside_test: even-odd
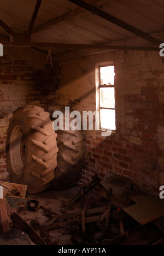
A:
[[[141,225],[164,216],[164,200],[159,196],[136,196],[132,200],[136,204],[125,208],[124,211]]]

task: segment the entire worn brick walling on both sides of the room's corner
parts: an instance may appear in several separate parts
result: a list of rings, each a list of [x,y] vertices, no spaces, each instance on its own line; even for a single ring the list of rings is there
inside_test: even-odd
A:
[[[118,51],[68,58],[53,69],[45,65],[46,55],[33,49],[7,48],[4,55],[0,58],[0,179],[8,177],[5,138],[13,110],[27,103],[45,109],[57,103],[80,112],[95,111],[95,65],[114,61],[116,132],[107,138],[98,131],[86,132],[83,179],[87,183],[95,172],[102,178],[113,172],[149,191],[159,190],[164,184],[164,63],[159,53],[129,51],[128,67]]]

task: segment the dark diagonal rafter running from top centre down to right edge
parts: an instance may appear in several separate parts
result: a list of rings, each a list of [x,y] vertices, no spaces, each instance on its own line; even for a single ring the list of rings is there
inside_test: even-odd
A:
[[[139,30],[138,28],[133,27],[130,24],[127,24],[124,21],[122,21],[118,18],[115,18],[113,15],[110,15],[95,6],[84,2],[83,0],[68,0],[68,1],[71,3],[77,4],[79,7],[84,8],[85,10],[91,11],[91,13],[96,14],[105,20],[108,20],[108,21],[112,22],[113,24],[115,24],[121,28],[124,28],[125,30],[127,30],[133,34],[136,34],[137,36],[142,37],[145,40],[147,40],[153,44],[160,45],[161,43],[163,43],[161,40],[150,36],[148,33],[145,33],[143,31]]]

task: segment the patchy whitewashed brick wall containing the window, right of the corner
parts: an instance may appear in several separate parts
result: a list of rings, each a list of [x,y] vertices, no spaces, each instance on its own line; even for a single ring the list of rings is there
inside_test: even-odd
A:
[[[60,62],[57,103],[80,112],[96,109],[96,63],[115,65],[116,132],[107,138],[86,132],[84,181],[94,173],[103,178],[113,172],[158,192],[164,184],[164,63],[159,53],[117,51],[67,59]]]

